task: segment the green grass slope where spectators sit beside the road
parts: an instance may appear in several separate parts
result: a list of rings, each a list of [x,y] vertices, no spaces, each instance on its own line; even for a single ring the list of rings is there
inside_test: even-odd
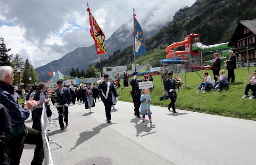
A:
[[[250,68],[250,74],[256,67]],[[211,70],[207,70],[211,78],[213,73]],[[205,70],[199,71],[202,76]],[[227,74],[227,70],[225,70]],[[231,84],[229,88],[216,91],[210,91],[207,93],[196,93],[201,79],[196,72],[187,73],[187,87],[181,87],[178,92],[178,99],[175,103],[176,108],[185,109],[188,111],[196,111],[201,113],[222,115],[228,117],[236,117],[242,119],[256,120],[256,99],[248,100],[248,98],[241,99],[244,94],[245,86],[248,83],[248,69],[236,69],[236,83]],[[175,76],[175,75],[174,75]],[[184,73],[179,74],[182,79],[182,85],[185,84]],[[142,77],[139,77],[142,79]],[[167,107],[170,100],[160,101],[160,97],[163,96],[163,86],[161,85],[161,77],[153,76],[154,89],[150,91],[152,98],[151,105]],[[120,81],[123,85],[123,80]],[[119,99],[126,102],[132,102],[132,96],[130,95],[131,86],[120,87],[118,89]]]

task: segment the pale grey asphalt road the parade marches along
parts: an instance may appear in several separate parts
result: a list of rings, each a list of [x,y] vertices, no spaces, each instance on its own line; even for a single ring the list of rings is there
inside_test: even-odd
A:
[[[255,121],[151,106],[150,128],[134,117],[132,103],[119,101],[108,124],[103,103],[95,105],[91,114],[84,104],[69,106],[63,131],[52,115],[58,127],[50,124],[50,139],[63,146],[50,145],[55,165],[255,165]],[[30,164],[33,148],[25,145],[21,165]]]

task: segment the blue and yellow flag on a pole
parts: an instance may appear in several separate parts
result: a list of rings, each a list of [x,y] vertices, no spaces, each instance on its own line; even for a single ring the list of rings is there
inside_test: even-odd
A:
[[[145,44],[145,39],[143,37],[143,32],[141,29],[141,26],[139,25],[139,22],[135,18],[135,13],[134,13],[134,54],[139,54],[139,55],[145,55],[146,52],[146,44]]]

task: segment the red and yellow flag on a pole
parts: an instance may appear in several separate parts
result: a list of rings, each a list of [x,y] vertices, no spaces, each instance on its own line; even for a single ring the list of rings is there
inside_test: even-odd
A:
[[[89,19],[90,19],[90,33],[95,42],[95,48],[97,54],[106,54],[106,46],[105,46],[105,35],[100,29],[100,26],[97,24],[95,18],[90,12],[89,7],[87,8],[89,12]]]

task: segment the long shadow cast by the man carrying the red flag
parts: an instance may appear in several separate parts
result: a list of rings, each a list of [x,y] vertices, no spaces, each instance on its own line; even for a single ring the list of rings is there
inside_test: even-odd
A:
[[[118,122],[113,122],[111,124],[117,124]],[[86,130],[85,132],[80,133],[80,137],[77,139],[76,144],[73,148],[70,148],[69,151],[74,150],[77,146],[81,145],[83,142],[91,139],[93,136],[97,135],[98,133],[100,133],[100,130],[102,130],[102,128],[106,128],[107,126],[111,125],[108,123],[102,123],[99,126],[96,126],[92,129],[92,131],[88,131]]]

